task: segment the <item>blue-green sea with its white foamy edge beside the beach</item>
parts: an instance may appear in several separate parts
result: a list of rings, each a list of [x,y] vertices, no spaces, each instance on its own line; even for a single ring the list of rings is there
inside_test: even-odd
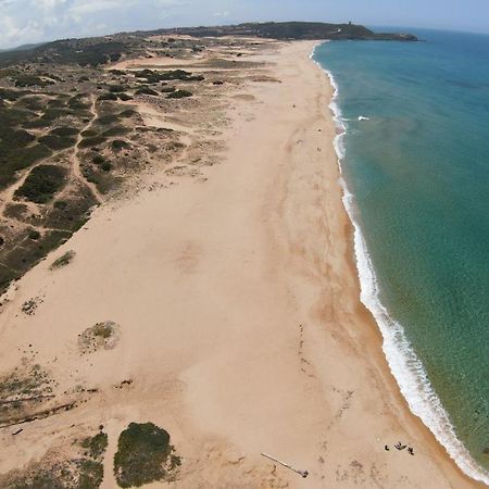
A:
[[[489,485],[489,36],[414,34],[314,60],[338,88],[362,300],[412,411]]]

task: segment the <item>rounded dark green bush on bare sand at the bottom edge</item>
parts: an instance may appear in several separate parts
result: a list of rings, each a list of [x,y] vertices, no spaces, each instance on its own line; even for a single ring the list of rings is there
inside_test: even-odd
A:
[[[180,459],[170,444],[170,435],[152,423],[130,423],[118,437],[114,475],[123,488],[158,480],[175,480]]]

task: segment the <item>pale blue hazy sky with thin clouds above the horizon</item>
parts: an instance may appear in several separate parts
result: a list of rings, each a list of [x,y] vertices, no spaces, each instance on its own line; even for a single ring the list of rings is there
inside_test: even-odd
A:
[[[121,30],[290,20],[489,33],[489,0],[0,0],[0,48]]]

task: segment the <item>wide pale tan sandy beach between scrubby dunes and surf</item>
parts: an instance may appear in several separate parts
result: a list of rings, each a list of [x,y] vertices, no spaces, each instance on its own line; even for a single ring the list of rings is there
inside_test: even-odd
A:
[[[184,152],[133,198],[98,208],[8,292],[0,373],[41,365],[57,405],[75,406],[16,436],[17,426],[1,428],[0,474],[62,456],[73,437],[103,425],[101,487],[116,488],[120,432],[152,422],[183,464],[176,481],[147,487],[479,487],[410,413],[360,303],[333,90],[313,47],[250,51],[269,73],[223,96],[216,164],[177,172]],[[184,139],[200,130],[141,115],[186,129]],[[50,269],[68,250],[73,261]],[[24,314],[33,299],[35,314]],[[80,353],[79,335],[109,321],[114,344]]]

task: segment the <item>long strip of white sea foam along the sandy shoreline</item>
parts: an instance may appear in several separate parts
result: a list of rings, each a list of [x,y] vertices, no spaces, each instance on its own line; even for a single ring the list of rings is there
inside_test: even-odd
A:
[[[316,48],[317,46],[311,53],[311,59],[313,60]],[[449,415],[435,392],[422,362],[408,340],[404,329],[397,321],[390,317],[387,309],[380,301],[379,285],[359,224],[355,199],[349,191],[342,177],[342,161],[346,155],[343,139],[347,126],[338,104],[339,87],[333,73],[323,68],[318,62],[314,62],[328,75],[334,88],[334,95],[329,104],[338,128],[334,145],[341,175],[340,185],[343,191],[343,205],[354,228],[354,252],[361,285],[361,301],[377,322],[383,335],[383,350],[389,368],[408,401],[410,410],[432,431],[437,440],[446,448],[449,455],[466,475],[489,485],[489,473],[474,461],[464,444],[456,438]]]

